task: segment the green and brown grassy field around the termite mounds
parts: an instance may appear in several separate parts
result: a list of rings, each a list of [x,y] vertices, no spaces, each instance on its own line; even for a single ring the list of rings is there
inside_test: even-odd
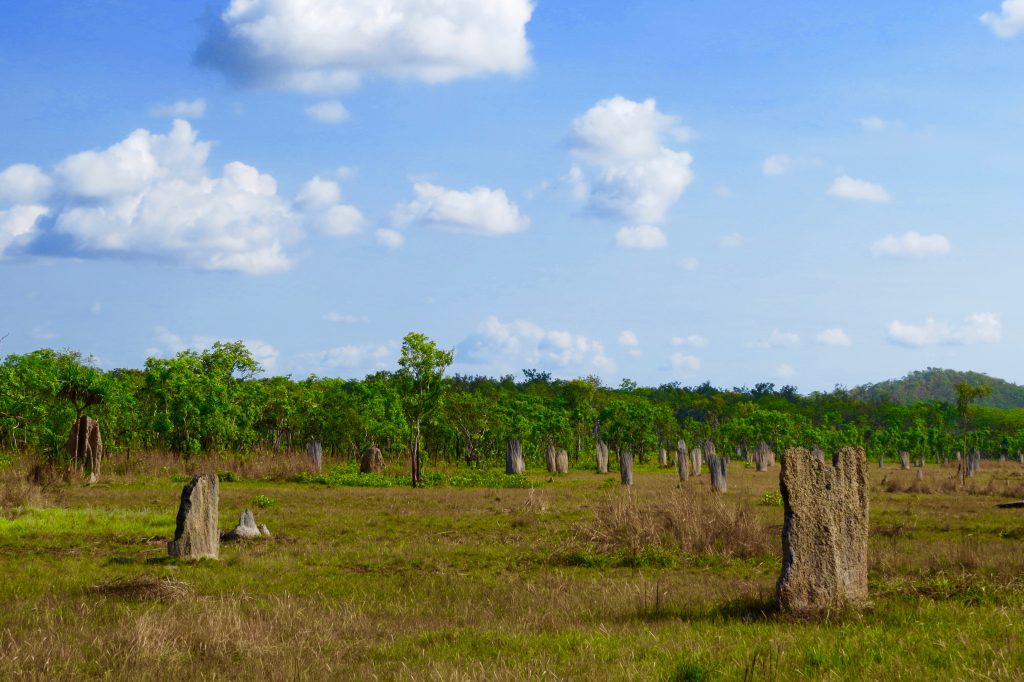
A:
[[[871,475],[862,613],[773,608],[778,469],[532,487],[221,483],[266,542],[166,558],[183,472],[0,480],[0,679],[1020,679],[1024,467]],[[177,475],[176,475],[177,474]],[[887,476],[883,480],[883,476]],[[325,477],[328,483],[330,477]],[[343,482],[340,475],[336,482]],[[486,484],[493,478],[482,477]],[[480,481],[477,481],[480,482]],[[255,500],[269,506],[257,508]]]

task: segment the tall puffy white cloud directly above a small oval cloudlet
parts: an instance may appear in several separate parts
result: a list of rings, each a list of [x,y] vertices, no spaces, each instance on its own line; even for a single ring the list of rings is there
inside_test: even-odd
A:
[[[686,152],[666,145],[690,132],[657,111],[653,99],[621,96],[599,101],[572,122],[572,155],[588,165],[570,171],[574,194],[598,214],[657,224],[693,181]]]

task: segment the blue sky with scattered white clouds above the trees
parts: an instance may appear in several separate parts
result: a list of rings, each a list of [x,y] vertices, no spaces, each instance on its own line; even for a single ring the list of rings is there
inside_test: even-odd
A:
[[[1024,382],[1024,0],[35,0],[0,352]]]

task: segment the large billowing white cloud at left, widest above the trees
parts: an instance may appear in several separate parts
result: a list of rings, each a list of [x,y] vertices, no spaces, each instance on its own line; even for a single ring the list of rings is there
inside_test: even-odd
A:
[[[211,177],[209,152],[178,119],[166,135],[139,129],[106,150],[69,157],[56,167],[66,198],[56,230],[84,251],[257,274],[288,269],[284,245],[300,236],[300,217],[274,179],[252,166],[231,162]]]

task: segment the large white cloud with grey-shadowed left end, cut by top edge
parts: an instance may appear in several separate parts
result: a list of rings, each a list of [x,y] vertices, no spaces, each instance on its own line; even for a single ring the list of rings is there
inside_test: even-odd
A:
[[[231,0],[199,50],[248,85],[352,89],[366,76],[439,83],[529,65],[530,0]]]

